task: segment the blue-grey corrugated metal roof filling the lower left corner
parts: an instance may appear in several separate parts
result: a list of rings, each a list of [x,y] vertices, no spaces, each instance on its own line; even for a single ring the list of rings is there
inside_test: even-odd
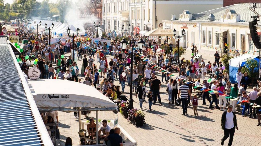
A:
[[[41,136],[44,132],[38,127],[44,125],[37,122],[32,112],[37,109],[28,101],[6,38],[0,38],[0,58],[0,145],[44,145]]]

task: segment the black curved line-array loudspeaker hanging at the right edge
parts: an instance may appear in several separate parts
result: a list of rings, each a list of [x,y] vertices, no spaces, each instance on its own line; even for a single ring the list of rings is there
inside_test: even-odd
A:
[[[256,29],[256,23],[257,23],[256,20],[249,21],[249,29],[250,29],[251,38],[253,40],[255,47],[257,49],[260,49],[261,48],[261,42],[260,42],[260,38],[258,36],[258,32],[257,32],[257,29]]]

